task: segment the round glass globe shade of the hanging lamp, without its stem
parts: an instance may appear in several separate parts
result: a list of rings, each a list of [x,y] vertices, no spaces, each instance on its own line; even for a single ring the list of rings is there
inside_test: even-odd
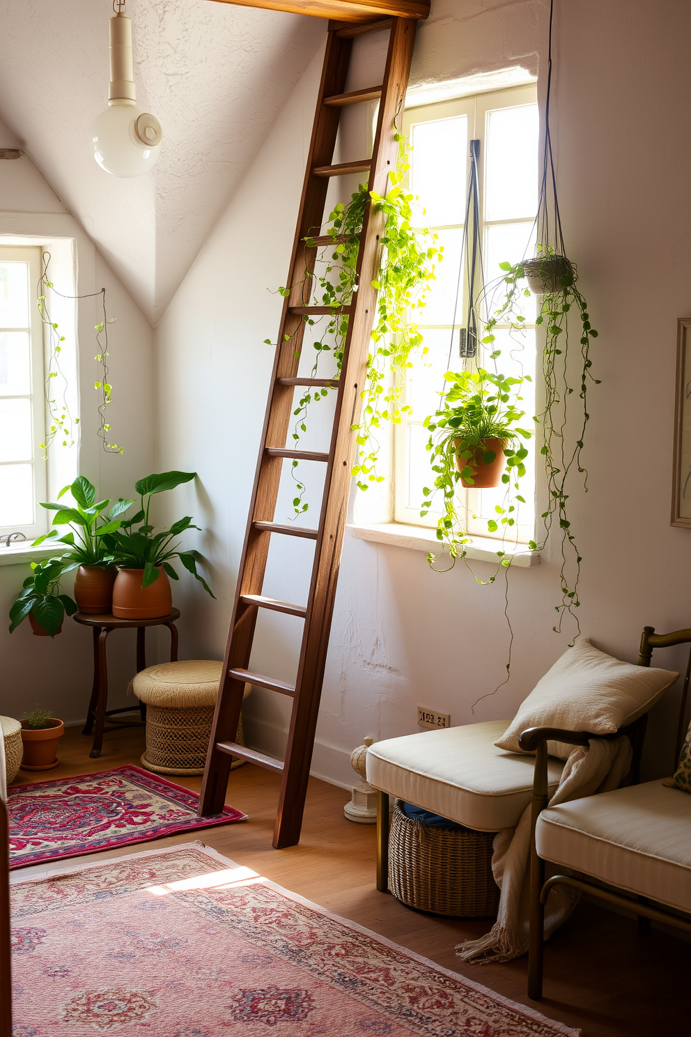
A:
[[[144,118],[143,125],[141,117]],[[138,125],[142,135],[149,137],[154,143],[147,144],[140,139]],[[112,173],[113,176],[139,176],[151,169],[159,159],[161,127],[140,108],[133,105],[112,105],[94,120],[91,142],[93,157],[107,173]]]

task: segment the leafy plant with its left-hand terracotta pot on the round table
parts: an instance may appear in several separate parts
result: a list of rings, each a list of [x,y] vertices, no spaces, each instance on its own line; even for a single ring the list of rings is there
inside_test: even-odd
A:
[[[112,552],[113,534],[122,525],[124,512],[135,503],[134,500],[119,500],[108,512],[110,501],[96,501],[95,487],[87,478],[80,475],[69,486],[64,486],[58,494],[58,501],[69,491],[76,502],[76,507],[57,504],[51,501],[41,502],[41,507],[55,511],[53,526],[69,526],[68,533],[58,536],[58,530],[52,529],[45,536],[34,540],[34,546],[45,540],[54,539],[56,544],[66,544],[69,549],[61,556],[62,571],[77,569],[75,573],[75,599],[80,612],[87,615],[104,615],[110,613],[113,605],[113,584],[117,576],[114,565],[115,556]]]

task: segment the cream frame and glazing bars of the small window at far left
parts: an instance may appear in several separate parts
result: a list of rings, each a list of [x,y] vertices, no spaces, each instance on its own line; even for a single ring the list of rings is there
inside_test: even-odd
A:
[[[22,461],[0,461],[1,467],[15,464],[30,464],[32,469],[33,521],[31,523],[0,526],[0,536],[8,533],[24,533],[27,540],[35,539],[48,529],[48,512],[39,506],[39,501],[47,500],[48,472],[47,464],[40,454],[39,444],[46,442],[46,361],[44,323],[35,305],[35,286],[40,278],[40,256],[42,248],[38,245],[0,245],[0,261],[28,263],[28,304],[29,325],[23,328],[0,327],[1,332],[29,333],[29,364],[30,393],[19,393],[3,396],[2,399],[29,399],[31,405],[31,456]]]

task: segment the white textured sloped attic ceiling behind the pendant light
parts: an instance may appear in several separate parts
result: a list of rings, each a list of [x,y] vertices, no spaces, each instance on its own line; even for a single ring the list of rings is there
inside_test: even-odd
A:
[[[164,143],[151,172],[119,179],[96,166],[88,135],[107,105],[111,0],[0,0],[0,119],[156,323],[326,23],[129,0],[137,103]]]

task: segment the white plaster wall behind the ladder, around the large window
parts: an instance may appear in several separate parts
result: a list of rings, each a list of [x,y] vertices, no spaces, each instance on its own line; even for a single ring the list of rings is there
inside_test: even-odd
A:
[[[691,534],[669,527],[675,318],[691,312],[689,85],[691,7],[669,0],[558,4],[553,134],[568,248],[600,331],[602,385],[591,401],[589,493],[571,498],[582,549],[581,626],[607,651],[635,660],[644,624],[691,625]],[[542,0],[434,0],[420,28],[412,85],[522,66],[544,93],[547,6]],[[376,41],[358,75],[374,61]],[[219,600],[183,591],[182,652],[221,657],[264,412],[270,348],[303,179],[318,78],[313,62],[157,332],[159,458],[196,467],[194,498]],[[359,85],[368,85],[366,81]],[[176,509],[179,511],[179,507]],[[511,682],[505,587],[479,587],[457,566],[430,571],[425,555],[346,538],[313,769],[348,784],[351,749],[371,734],[418,730],[418,703],[453,724],[513,716],[566,649],[552,633],[558,597],[553,544],[534,569],[510,573],[515,632]],[[300,600],[308,555],[278,543],[266,592]],[[489,567],[477,563],[481,576]],[[296,621],[262,616],[253,665],[289,678]],[[661,665],[681,665],[668,653]],[[481,696],[479,704],[472,703]],[[286,706],[255,692],[246,704],[255,745],[280,754]],[[673,698],[654,710],[651,775],[670,767]],[[667,740],[665,740],[667,739]],[[667,748],[665,748],[667,747]]]

